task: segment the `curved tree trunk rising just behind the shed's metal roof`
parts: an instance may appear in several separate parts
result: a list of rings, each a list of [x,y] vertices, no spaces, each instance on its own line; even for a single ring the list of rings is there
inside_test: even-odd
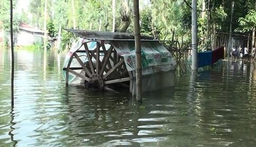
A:
[[[125,33],[130,25],[129,22],[129,0],[122,1],[122,22],[120,26],[117,28],[118,32]]]

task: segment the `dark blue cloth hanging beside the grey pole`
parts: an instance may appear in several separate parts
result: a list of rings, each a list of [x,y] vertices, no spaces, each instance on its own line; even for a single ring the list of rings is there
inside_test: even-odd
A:
[[[198,68],[212,65],[212,51],[198,53]]]

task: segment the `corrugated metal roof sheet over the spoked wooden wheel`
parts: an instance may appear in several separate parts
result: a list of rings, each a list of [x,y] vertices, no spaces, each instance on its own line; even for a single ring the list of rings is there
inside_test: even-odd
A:
[[[119,33],[111,31],[94,31],[94,30],[80,30],[80,29],[65,29],[83,39],[87,40],[116,40],[116,41],[134,41],[134,39],[114,39],[114,35],[134,35],[133,33]],[[149,40],[141,39],[141,41],[168,41],[168,40]]]

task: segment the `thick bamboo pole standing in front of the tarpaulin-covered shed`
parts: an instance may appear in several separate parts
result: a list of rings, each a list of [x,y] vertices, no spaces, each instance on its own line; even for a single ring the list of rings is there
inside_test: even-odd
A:
[[[135,31],[135,56],[136,56],[136,99],[141,102],[142,95],[142,67],[139,27],[139,0],[134,0],[134,31]]]

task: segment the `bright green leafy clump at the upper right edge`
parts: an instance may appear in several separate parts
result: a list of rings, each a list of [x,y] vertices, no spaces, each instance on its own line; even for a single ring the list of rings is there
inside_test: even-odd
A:
[[[246,32],[251,31],[256,27],[256,12],[253,9],[250,9],[248,14],[245,17],[240,17],[238,19],[239,27],[235,31]]]

